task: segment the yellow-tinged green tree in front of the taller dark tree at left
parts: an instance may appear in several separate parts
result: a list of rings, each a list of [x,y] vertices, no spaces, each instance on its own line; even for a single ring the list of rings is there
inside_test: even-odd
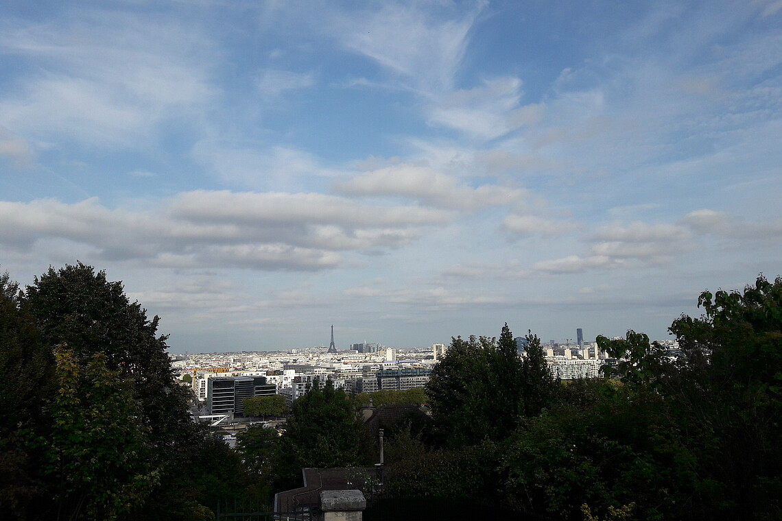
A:
[[[59,383],[48,465],[58,518],[117,519],[138,508],[158,480],[146,452],[148,429],[139,421],[132,384],[92,355],[84,369],[73,351],[58,348]]]

